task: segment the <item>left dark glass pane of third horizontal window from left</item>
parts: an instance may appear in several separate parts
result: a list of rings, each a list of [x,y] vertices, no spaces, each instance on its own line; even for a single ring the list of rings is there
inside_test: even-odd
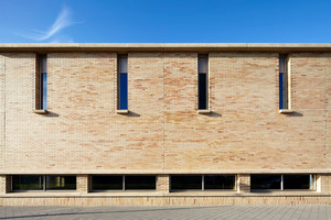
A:
[[[202,189],[202,176],[171,176],[171,189]]]

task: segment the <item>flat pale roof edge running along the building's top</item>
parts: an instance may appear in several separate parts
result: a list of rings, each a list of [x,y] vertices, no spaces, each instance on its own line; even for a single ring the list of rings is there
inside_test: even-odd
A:
[[[331,52],[329,43],[2,43],[1,52]]]

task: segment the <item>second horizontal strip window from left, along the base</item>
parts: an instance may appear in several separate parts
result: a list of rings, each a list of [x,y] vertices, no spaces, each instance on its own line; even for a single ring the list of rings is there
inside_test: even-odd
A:
[[[93,191],[100,190],[156,190],[156,176],[113,176],[94,175],[90,177]]]

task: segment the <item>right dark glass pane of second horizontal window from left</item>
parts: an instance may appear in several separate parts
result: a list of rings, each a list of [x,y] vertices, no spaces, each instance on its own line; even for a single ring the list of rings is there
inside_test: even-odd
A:
[[[130,189],[156,189],[156,176],[125,176],[126,190]]]

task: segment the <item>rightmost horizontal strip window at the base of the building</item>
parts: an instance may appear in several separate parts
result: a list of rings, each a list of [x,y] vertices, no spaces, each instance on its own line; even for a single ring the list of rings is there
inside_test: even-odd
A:
[[[250,175],[252,190],[316,190],[314,175]]]

